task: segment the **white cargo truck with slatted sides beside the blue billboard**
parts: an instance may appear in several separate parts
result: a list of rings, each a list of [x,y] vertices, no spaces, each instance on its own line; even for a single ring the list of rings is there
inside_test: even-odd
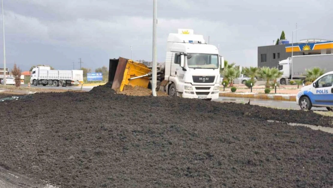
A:
[[[50,66],[37,66],[32,69],[30,84],[71,86],[83,83],[83,70],[51,70]]]

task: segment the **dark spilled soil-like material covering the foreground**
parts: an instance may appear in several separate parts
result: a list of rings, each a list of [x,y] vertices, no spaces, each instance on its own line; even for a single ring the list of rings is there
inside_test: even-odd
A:
[[[0,166],[59,187],[332,187],[313,112],[193,99],[37,93],[0,103]]]

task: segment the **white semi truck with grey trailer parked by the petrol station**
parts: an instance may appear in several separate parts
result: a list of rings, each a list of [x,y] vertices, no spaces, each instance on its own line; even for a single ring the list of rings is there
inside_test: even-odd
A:
[[[278,68],[283,71],[283,75],[279,78],[280,84],[288,84],[291,74],[293,74],[293,79],[305,80],[305,69],[319,67],[325,69],[326,72],[333,70],[333,54],[296,55],[292,59],[294,61],[292,70],[291,57],[279,62]]]

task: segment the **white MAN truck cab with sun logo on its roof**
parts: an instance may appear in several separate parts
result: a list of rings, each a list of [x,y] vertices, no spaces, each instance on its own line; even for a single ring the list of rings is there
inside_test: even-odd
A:
[[[216,46],[206,44],[193,30],[178,29],[167,39],[165,90],[170,96],[217,99],[221,64],[224,58]]]

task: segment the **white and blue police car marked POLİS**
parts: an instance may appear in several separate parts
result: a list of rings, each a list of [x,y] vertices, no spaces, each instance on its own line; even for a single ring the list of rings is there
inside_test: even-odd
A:
[[[333,71],[319,76],[311,85],[302,87],[297,93],[296,104],[302,110],[326,107],[333,111]]]

